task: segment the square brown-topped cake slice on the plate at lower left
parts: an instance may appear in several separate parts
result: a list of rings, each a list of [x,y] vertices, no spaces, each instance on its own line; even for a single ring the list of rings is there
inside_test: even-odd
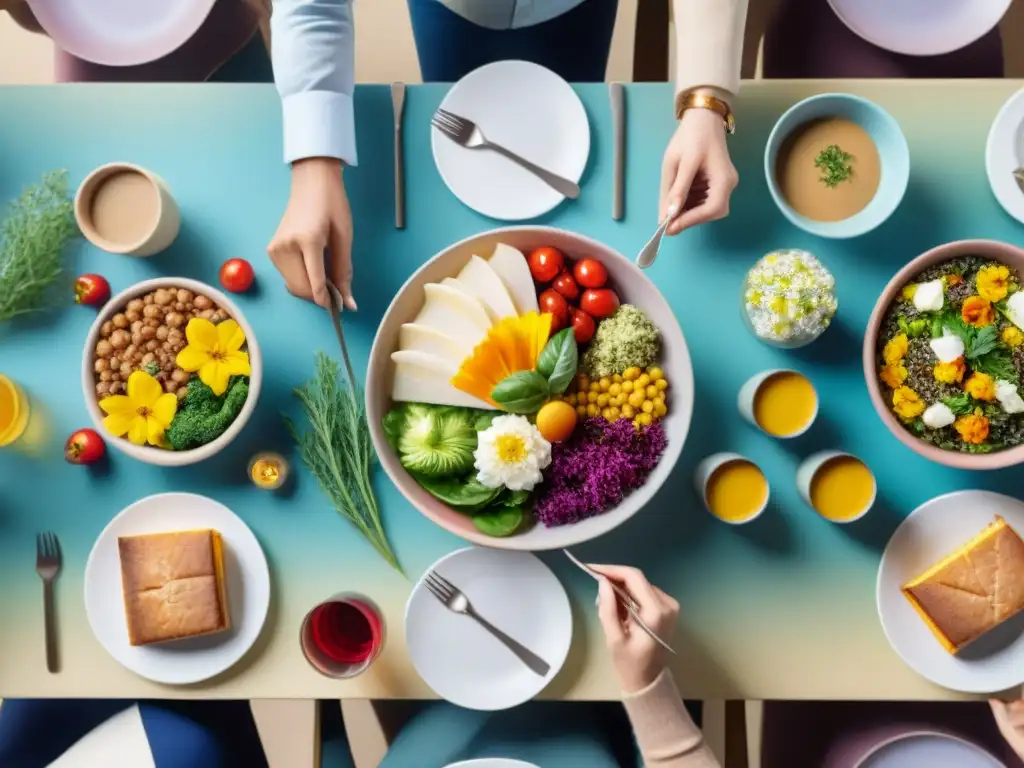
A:
[[[119,537],[118,551],[132,645],[230,627],[224,548],[216,530]]]

